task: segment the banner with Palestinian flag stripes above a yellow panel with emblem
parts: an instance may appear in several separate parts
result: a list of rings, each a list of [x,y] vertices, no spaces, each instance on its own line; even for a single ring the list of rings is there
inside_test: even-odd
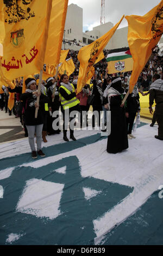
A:
[[[106,57],[108,74],[133,70],[133,58],[130,51],[114,52]]]

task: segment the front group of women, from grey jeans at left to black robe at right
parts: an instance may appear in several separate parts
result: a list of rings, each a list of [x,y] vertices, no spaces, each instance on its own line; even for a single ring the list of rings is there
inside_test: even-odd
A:
[[[37,155],[45,157],[42,152],[42,139],[46,142],[46,134],[60,133],[61,130],[53,126],[53,122],[59,116],[49,115],[61,108],[63,116],[63,139],[69,141],[67,138],[68,122],[74,121],[76,112],[81,113],[80,125],[82,126],[82,112],[88,111],[90,105],[87,99],[93,94],[92,108],[93,112],[104,110],[104,117],[106,111],[111,111],[111,133],[108,136],[107,151],[109,153],[117,153],[128,148],[128,139],[135,138],[131,134],[134,119],[137,111],[140,111],[139,92],[137,87],[134,87],[127,99],[125,105],[122,105],[122,99],[126,94],[126,90],[122,87],[121,78],[108,78],[107,70],[104,82],[93,76],[93,88],[90,90],[88,85],[85,85],[82,92],[77,94],[76,83],[71,84],[68,76],[63,74],[60,80],[57,81],[53,77],[47,79],[46,85],[41,85],[41,92],[36,90],[36,80],[28,78],[25,81],[26,92],[20,94],[20,100],[23,102],[23,120],[28,132],[29,145],[32,151],[32,158],[36,159]],[[39,105],[36,99],[40,96]],[[113,97],[114,96],[114,97]],[[54,99],[54,100],[53,100]],[[35,110],[38,109],[37,118],[35,118]],[[86,115],[87,118],[87,115]],[[99,118],[98,126],[101,126],[101,118]],[[87,124],[87,122],[86,122]],[[88,125],[88,124],[87,124]],[[57,126],[58,127],[58,126]],[[95,127],[95,117],[92,115],[92,128]],[[74,137],[74,127],[70,128],[70,139],[76,141]],[[106,118],[102,123],[102,131],[106,131]],[[35,148],[34,138],[36,136]]]

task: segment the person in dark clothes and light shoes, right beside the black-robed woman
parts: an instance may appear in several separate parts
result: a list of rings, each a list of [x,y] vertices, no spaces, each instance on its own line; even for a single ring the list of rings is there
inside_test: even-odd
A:
[[[129,86],[126,88],[126,92],[128,90],[129,90]],[[133,124],[134,124],[134,120],[137,112],[140,112],[140,102],[139,102],[139,90],[137,88],[137,85],[135,85],[133,92],[129,94],[126,100],[126,124],[127,124],[128,139],[135,138],[135,136],[131,133],[133,130]]]

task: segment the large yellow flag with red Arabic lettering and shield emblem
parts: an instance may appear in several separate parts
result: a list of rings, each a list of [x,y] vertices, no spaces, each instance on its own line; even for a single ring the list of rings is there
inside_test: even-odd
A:
[[[2,73],[12,80],[43,68],[52,0],[0,2],[4,22]],[[1,42],[0,42],[1,43]]]

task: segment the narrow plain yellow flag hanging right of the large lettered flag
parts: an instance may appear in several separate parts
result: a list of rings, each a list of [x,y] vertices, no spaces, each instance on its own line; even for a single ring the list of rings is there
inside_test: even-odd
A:
[[[52,64],[53,66],[57,66],[60,60],[67,5],[68,0],[55,0],[52,3],[51,20],[48,33],[49,38],[47,40],[45,63]]]

